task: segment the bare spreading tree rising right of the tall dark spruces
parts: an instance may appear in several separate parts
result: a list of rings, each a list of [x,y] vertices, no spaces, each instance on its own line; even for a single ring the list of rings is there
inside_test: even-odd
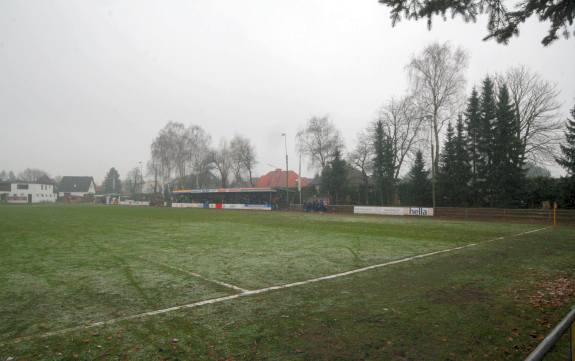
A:
[[[517,136],[521,139],[524,159],[532,162],[553,160],[561,142],[562,121],[555,84],[521,65],[512,67],[497,77],[506,84],[518,121]]]

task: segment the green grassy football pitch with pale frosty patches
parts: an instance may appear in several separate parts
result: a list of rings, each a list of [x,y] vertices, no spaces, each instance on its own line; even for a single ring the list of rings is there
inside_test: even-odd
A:
[[[520,360],[575,304],[542,227],[0,206],[0,360]]]

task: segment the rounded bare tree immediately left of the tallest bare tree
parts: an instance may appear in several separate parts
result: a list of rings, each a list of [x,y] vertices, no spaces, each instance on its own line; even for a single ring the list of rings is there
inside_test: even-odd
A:
[[[394,180],[397,181],[406,159],[414,153],[414,147],[421,141],[425,117],[419,114],[415,98],[404,96],[390,99],[379,112],[385,134],[391,141],[393,153]]]

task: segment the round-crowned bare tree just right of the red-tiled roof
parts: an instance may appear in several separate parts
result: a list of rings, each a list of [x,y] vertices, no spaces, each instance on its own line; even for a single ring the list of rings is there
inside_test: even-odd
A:
[[[333,158],[335,150],[343,148],[343,140],[327,116],[312,117],[297,133],[297,146],[299,152],[309,158],[311,166],[319,166],[321,172]]]

